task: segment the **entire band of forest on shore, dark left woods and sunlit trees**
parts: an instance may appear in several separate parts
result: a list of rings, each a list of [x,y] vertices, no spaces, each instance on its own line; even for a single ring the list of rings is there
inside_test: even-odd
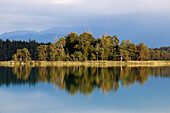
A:
[[[148,61],[170,60],[170,47],[148,48],[144,43],[120,42],[116,35],[95,38],[91,33],[71,32],[54,43],[0,39],[0,54],[0,61]]]

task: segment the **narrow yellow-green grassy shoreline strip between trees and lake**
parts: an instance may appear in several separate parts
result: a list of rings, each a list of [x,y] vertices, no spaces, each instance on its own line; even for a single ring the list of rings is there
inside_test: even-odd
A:
[[[30,61],[20,63],[14,61],[0,62],[0,66],[170,66],[170,61]]]

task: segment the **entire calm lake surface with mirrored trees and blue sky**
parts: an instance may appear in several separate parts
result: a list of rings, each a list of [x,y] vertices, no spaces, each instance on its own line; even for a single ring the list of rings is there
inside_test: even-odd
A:
[[[170,113],[170,67],[0,67],[0,113]]]

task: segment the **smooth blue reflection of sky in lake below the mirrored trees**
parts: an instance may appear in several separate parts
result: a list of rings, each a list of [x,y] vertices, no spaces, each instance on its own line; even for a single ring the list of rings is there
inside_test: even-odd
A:
[[[49,83],[0,88],[0,113],[168,113],[170,79],[149,78],[144,85],[103,94],[71,95]]]

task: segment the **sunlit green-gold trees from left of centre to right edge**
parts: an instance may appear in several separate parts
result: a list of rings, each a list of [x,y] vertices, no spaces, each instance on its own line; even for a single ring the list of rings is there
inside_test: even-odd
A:
[[[143,43],[135,45],[129,40],[120,43],[116,35],[95,39],[86,32],[80,35],[72,32],[51,45],[40,45],[37,52],[40,61],[170,60],[170,53],[163,49],[149,49]]]

